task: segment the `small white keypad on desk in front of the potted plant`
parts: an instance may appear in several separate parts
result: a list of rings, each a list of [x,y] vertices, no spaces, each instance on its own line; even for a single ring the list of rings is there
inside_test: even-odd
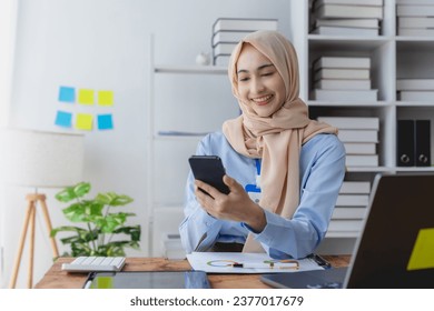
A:
[[[120,271],[125,265],[125,257],[78,257],[70,263],[63,263],[62,270],[68,272]]]

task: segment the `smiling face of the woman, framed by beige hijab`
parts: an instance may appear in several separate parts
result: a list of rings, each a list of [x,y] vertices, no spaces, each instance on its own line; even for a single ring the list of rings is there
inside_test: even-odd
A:
[[[240,100],[259,117],[269,117],[285,102],[286,90],[272,61],[245,43],[237,61],[238,94]]]

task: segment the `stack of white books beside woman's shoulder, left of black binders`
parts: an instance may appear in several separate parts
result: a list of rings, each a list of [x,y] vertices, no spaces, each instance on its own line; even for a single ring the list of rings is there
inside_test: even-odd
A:
[[[377,117],[318,117],[338,128],[337,137],[346,150],[347,167],[377,167],[379,119]]]

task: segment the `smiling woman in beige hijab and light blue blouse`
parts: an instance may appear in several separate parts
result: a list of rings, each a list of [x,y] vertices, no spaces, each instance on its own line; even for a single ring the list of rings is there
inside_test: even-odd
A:
[[[197,154],[221,158],[230,193],[189,173],[183,245],[187,252],[304,258],[325,237],[344,179],[337,129],[308,118],[298,98],[297,56],[280,33],[248,34],[235,48],[228,74],[241,114],[205,137]]]

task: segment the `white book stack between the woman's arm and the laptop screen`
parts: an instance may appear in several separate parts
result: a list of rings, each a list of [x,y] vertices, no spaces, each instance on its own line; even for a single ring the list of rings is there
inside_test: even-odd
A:
[[[369,202],[369,181],[344,181],[337,197],[329,231],[361,230]]]

